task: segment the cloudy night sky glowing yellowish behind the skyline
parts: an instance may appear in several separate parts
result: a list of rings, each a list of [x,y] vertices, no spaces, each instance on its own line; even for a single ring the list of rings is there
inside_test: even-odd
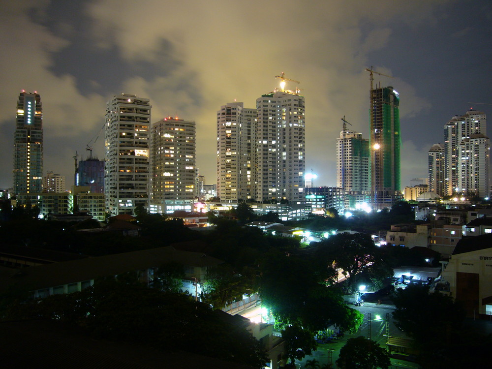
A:
[[[489,0],[0,0],[0,188],[12,185],[16,101],[43,104],[44,171],[73,184],[75,152],[87,157],[106,101],[151,99],[152,122],[195,120],[197,166],[215,183],[216,111],[254,107],[301,81],[307,171],[334,186],[335,140],[345,116],[369,137],[369,73],[400,93],[402,186],[427,176],[443,124],[470,107],[492,117]],[[470,104],[473,102],[474,104]],[[478,105],[482,103],[483,105]],[[104,133],[93,153],[104,157]]]

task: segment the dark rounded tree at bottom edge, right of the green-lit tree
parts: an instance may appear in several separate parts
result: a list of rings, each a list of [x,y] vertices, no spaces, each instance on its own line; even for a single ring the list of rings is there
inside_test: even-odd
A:
[[[340,349],[337,360],[340,369],[388,368],[391,365],[389,353],[376,341],[359,336],[349,338]]]

